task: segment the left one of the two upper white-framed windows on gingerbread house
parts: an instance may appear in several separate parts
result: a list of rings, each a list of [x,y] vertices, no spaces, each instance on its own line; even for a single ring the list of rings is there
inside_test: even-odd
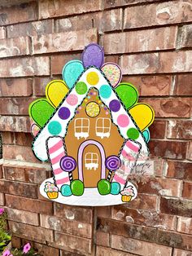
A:
[[[77,139],[89,137],[89,119],[76,118],[75,119],[75,137]]]

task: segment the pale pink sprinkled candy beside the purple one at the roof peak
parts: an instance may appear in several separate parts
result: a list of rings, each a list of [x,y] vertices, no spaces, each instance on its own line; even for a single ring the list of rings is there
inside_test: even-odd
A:
[[[122,72],[119,65],[112,62],[107,62],[103,64],[101,69],[109,82],[111,82],[111,86],[116,87],[120,83]]]

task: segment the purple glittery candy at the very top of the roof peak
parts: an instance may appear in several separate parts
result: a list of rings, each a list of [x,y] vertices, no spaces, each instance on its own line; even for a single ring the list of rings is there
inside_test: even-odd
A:
[[[85,46],[82,53],[82,62],[85,68],[89,66],[95,66],[101,68],[104,61],[104,51],[103,47],[98,46],[97,43],[90,43]]]

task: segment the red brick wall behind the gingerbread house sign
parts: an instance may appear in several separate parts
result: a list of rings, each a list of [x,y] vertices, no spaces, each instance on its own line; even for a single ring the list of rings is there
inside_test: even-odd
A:
[[[191,9],[190,0],[40,0],[0,9],[0,205],[13,245],[31,241],[45,256],[192,254]],[[124,81],[155,109],[156,175],[126,205],[73,207],[38,192],[50,166],[33,156],[28,104],[89,42],[104,46],[106,61],[120,64]]]

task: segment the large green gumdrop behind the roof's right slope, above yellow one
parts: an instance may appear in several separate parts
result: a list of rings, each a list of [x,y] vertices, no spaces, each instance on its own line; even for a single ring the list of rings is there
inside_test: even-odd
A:
[[[138,91],[132,84],[128,82],[121,82],[115,90],[127,109],[137,103]]]

